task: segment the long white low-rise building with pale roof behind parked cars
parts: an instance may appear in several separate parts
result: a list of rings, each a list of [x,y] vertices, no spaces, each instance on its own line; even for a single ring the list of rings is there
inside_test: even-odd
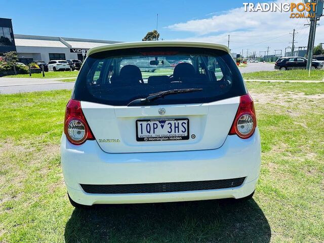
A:
[[[80,39],[54,36],[15,34],[19,62],[50,60],[84,60],[87,51],[93,47],[119,43],[97,39]]]

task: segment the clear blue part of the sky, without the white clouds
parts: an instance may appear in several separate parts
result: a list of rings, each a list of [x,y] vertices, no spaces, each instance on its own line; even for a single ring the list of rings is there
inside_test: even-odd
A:
[[[19,4],[18,4],[19,3]],[[55,3],[55,4],[54,4]],[[1,17],[12,18],[19,34],[91,37],[141,41],[147,31],[158,30],[164,39],[191,36],[163,27],[210,17],[242,6],[242,1],[9,1],[0,0]]]

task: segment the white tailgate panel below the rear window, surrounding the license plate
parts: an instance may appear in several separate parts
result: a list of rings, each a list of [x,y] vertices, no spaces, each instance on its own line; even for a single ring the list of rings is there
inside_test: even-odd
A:
[[[97,139],[119,140],[99,142],[108,153],[163,152],[215,149],[222,146],[232,126],[239,97],[206,104],[155,106],[111,106],[81,102],[88,124]],[[158,109],[164,108],[165,115]],[[136,141],[136,120],[188,118],[190,135],[195,138],[178,141]]]

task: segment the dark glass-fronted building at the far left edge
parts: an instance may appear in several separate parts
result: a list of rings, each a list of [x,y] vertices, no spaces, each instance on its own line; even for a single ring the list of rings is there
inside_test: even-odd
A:
[[[15,52],[15,38],[11,19],[0,18],[0,56],[5,52]]]

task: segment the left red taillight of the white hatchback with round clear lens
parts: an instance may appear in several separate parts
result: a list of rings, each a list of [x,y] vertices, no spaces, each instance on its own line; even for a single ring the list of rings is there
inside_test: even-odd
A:
[[[86,140],[95,140],[78,100],[71,99],[66,105],[64,133],[67,139],[75,145],[82,144]]]

